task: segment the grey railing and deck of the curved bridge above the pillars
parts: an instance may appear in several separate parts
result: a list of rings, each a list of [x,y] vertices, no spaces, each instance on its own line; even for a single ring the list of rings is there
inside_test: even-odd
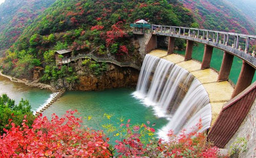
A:
[[[234,56],[239,57],[242,60],[245,60],[252,67],[256,68],[256,59],[253,58],[255,52],[249,53],[248,51],[250,47],[250,41],[252,42],[253,40],[256,40],[255,35],[228,33],[195,28],[168,27],[165,25],[152,25],[152,32],[155,35],[171,37],[171,39],[181,38],[222,49]],[[171,45],[168,48],[168,52],[172,53],[174,50],[172,44],[174,44],[174,42],[171,41],[170,44]],[[187,58],[189,58],[189,56]]]

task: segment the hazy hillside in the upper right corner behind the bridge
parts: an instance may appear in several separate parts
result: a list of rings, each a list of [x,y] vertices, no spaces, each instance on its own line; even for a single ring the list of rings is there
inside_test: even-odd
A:
[[[255,25],[245,14],[223,0],[179,0],[194,13],[201,28],[254,34]],[[231,0],[230,0],[231,1]]]

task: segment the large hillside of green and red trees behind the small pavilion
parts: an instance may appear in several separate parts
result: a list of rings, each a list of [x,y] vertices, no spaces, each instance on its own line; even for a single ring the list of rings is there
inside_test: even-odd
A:
[[[6,52],[2,68],[5,73],[31,79],[35,67],[48,65],[43,78],[52,80],[63,74],[55,66],[54,52],[59,49],[71,49],[75,56],[100,46],[100,56],[109,50],[118,61],[137,58],[129,24],[138,19],[184,27],[194,22],[189,10],[177,1],[58,0]]]

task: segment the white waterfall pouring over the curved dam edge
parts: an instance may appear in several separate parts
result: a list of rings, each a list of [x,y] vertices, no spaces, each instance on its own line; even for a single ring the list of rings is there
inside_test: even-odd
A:
[[[146,55],[134,96],[147,106],[153,106],[158,117],[169,119],[158,131],[159,137],[165,140],[170,129],[175,134],[183,128],[187,133],[194,131],[200,119],[199,132],[210,127],[211,106],[207,92],[197,78],[172,62]]]

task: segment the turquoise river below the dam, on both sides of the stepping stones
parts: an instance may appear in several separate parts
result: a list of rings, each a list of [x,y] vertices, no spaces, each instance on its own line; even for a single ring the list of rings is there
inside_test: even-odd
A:
[[[114,115],[111,122],[118,125],[118,118],[131,119],[132,124],[142,124],[146,121],[156,123],[155,129],[160,129],[168,121],[165,118],[157,118],[150,107],[145,107],[139,100],[132,96],[135,89],[118,88],[104,91],[69,91],[59,98],[44,113],[51,118],[53,113],[61,116],[67,110],[78,110],[80,116],[91,116],[90,121],[84,119],[87,126],[95,127],[97,124],[109,123],[103,118],[104,114]],[[20,99],[29,100],[32,110],[36,110],[50,98],[51,91],[38,88],[29,88],[24,84],[13,83],[9,79],[0,76],[0,95],[7,94],[16,103]]]

